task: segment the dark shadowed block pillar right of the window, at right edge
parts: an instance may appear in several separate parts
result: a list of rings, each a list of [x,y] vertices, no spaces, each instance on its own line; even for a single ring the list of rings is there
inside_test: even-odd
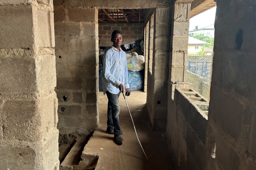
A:
[[[217,0],[208,113],[208,169],[256,169],[254,0]]]

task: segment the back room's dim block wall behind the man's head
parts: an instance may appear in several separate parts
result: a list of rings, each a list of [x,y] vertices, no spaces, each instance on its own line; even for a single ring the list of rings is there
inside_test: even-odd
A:
[[[99,23],[100,46],[112,46],[111,34],[113,30],[120,30],[123,37],[122,44],[128,44],[138,39],[144,39],[142,32],[144,23]]]

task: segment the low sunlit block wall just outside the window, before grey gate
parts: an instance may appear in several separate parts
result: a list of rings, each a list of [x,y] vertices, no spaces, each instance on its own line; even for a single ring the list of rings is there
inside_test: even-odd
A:
[[[197,74],[187,71],[186,81],[192,83],[192,85],[189,85],[190,88],[202,94],[202,83],[207,81],[207,78],[201,77]]]

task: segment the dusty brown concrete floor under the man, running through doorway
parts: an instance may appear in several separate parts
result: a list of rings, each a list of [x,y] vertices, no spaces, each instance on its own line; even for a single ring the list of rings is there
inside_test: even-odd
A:
[[[101,91],[99,92],[100,126],[86,144],[83,154],[98,155],[96,170],[173,170],[173,160],[168,152],[168,141],[163,137],[164,132],[151,130],[148,113],[145,109],[146,93],[132,91],[131,96],[126,98],[138,137],[149,159],[146,159],[138,143],[122,94],[119,97],[121,108],[119,119],[121,130],[124,132],[123,144],[117,145],[113,141],[114,135],[106,134],[108,100]]]

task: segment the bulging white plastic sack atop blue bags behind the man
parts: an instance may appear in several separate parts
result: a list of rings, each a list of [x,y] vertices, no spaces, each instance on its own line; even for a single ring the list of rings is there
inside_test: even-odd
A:
[[[143,55],[133,52],[132,54],[126,54],[126,59],[128,70],[138,72],[144,68],[145,58]]]

